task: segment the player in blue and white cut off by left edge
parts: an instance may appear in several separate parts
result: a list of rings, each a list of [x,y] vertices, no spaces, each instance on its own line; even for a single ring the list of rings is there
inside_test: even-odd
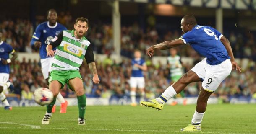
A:
[[[9,57],[12,54],[13,57]],[[13,88],[9,81],[10,63],[17,58],[17,54],[12,46],[2,41],[2,33],[0,33],[0,100],[3,102],[6,110],[12,110],[8,103],[4,91]]]

